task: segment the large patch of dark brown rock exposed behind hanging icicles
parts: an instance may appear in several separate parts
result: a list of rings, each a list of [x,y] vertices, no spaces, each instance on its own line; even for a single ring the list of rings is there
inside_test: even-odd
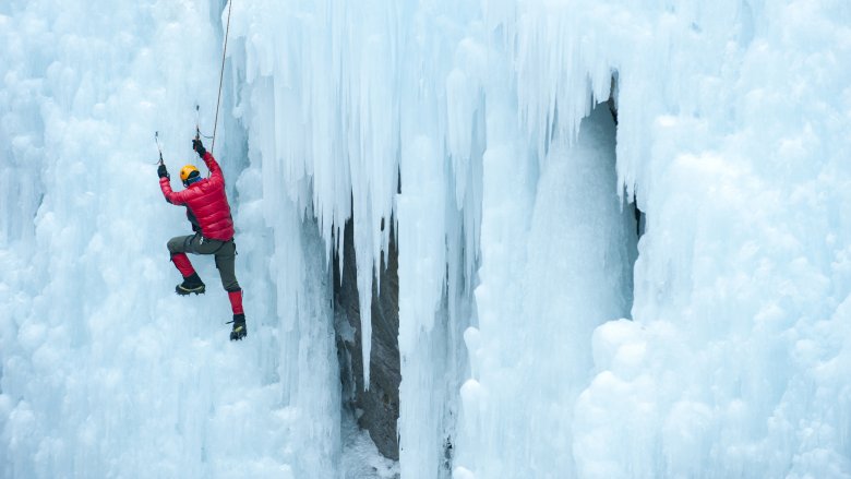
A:
[[[393,221],[389,221],[393,224]],[[363,391],[361,360],[360,304],[352,221],[346,224],[343,251],[343,280],[339,261],[334,261],[334,311],[337,355],[345,406],[356,412],[358,424],[369,431],[379,452],[399,459],[396,422],[399,418],[399,277],[398,249],[391,231],[388,262],[382,259],[381,291],[372,285],[372,348],[370,388]],[[386,266],[386,267],[385,267]]]

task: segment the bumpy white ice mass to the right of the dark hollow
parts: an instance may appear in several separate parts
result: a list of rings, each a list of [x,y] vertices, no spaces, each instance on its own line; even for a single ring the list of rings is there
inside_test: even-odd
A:
[[[655,24],[674,73],[643,122],[649,154],[620,164],[648,218],[637,321],[595,335],[578,471],[848,476],[851,12],[674,7]]]

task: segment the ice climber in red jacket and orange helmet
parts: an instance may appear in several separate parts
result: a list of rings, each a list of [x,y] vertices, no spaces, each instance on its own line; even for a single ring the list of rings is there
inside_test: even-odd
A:
[[[194,292],[203,294],[204,282],[192,267],[187,253],[213,254],[216,261],[218,274],[221,276],[221,285],[228,292],[230,307],[233,310],[233,328],[230,339],[242,339],[248,333],[245,328],[245,313],[242,310],[242,289],[237,283],[233,263],[237,258],[237,247],[233,243],[233,219],[230,216],[230,205],[225,194],[225,176],[212,154],[204,149],[201,140],[192,141],[192,149],[204,160],[209,169],[209,178],[202,178],[201,172],[192,165],[180,169],[180,180],[185,189],[175,192],[171,190],[171,177],[166,165],[159,165],[159,187],[166,201],[173,205],[184,205],[187,217],[192,224],[194,235],[178,236],[168,241],[168,251],[171,253],[171,262],[183,275],[183,283],[175,288],[178,295],[185,296]]]

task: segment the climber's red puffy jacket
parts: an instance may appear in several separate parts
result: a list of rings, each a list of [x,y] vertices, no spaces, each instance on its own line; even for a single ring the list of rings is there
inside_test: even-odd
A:
[[[195,181],[179,192],[171,191],[171,182],[168,178],[160,178],[159,188],[167,202],[187,205],[197,219],[204,238],[229,241],[233,238],[233,219],[225,194],[225,176],[209,152],[204,155],[204,163],[209,168],[209,178]]]

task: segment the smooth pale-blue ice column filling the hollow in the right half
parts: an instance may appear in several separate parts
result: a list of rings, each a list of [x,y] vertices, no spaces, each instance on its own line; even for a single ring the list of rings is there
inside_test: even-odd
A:
[[[489,246],[476,289],[479,322],[465,332],[472,378],[460,390],[458,468],[481,477],[570,471],[573,412],[564,405],[576,402],[587,380],[595,327],[628,315],[632,301],[635,218],[612,188],[608,106],[582,122],[572,146],[553,142],[530,209],[488,194],[528,181],[510,158],[486,157],[486,171],[492,175],[486,173],[484,203],[494,206],[483,216]],[[487,265],[494,256],[512,265],[508,275]]]

